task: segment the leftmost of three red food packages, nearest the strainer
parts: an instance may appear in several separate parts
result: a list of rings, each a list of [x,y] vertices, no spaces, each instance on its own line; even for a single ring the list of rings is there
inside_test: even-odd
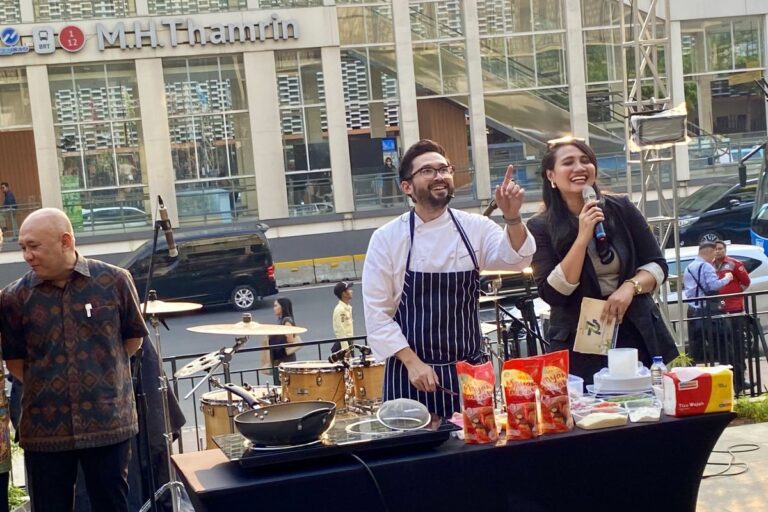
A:
[[[495,443],[499,438],[493,415],[493,391],[496,376],[490,362],[472,365],[456,363],[464,405],[464,441],[469,444]]]

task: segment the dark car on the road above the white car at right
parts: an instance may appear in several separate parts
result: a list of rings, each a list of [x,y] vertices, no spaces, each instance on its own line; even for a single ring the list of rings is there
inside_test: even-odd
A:
[[[736,178],[729,178],[704,185],[683,199],[677,208],[680,247],[699,245],[704,240],[748,244],[756,190],[756,179],[742,187]],[[667,247],[673,246],[670,239]]]

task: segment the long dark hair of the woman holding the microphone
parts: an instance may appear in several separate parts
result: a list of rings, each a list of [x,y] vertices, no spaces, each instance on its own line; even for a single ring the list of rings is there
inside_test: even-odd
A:
[[[579,148],[585,155],[587,155],[587,158],[592,165],[595,166],[595,184],[593,185],[593,188],[595,189],[597,197],[600,197],[600,189],[597,185],[597,156],[595,156],[595,152],[592,148],[589,147],[586,142],[578,139],[570,139],[567,142],[550,146],[544,155],[544,158],[541,159],[541,197],[544,201],[544,218],[547,221],[552,244],[557,253],[561,255],[568,252],[568,249],[570,249],[573,242],[576,240],[576,235],[579,233],[578,219],[571,214],[570,210],[568,210],[568,205],[560,194],[560,190],[552,188],[552,185],[547,178],[547,171],[554,171],[555,169],[557,150],[563,146],[575,146]]]

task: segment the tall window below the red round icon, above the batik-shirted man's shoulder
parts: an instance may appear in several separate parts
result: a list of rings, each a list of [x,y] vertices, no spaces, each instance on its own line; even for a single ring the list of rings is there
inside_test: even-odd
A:
[[[133,63],[48,70],[64,211],[77,231],[146,228],[146,169]]]

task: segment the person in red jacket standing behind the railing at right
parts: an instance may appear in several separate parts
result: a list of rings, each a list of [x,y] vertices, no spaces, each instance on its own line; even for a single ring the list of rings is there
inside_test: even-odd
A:
[[[715,270],[717,271],[717,277],[722,278],[727,272],[733,274],[731,282],[720,288],[718,292],[721,295],[726,293],[741,293],[745,291],[751,283],[749,272],[747,272],[747,269],[742,262],[729,257],[726,252],[725,242],[717,240],[715,242],[715,261],[713,262]],[[724,352],[724,362],[730,362],[733,365],[733,385],[738,394],[745,388],[750,387],[744,381],[745,326],[743,322],[744,317],[739,314],[744,312],[744,297],[728,297],[723,299],[721,310],[723,313],[734,315],[723,319],[725,326],[730,327],[728,331],[733,343],[730,344],[731,348],[728,347],[728,343],[723,343],[721,345],[721,350]],[[727,335],[725,338],[726,339],[723,341],[727,341]]]

